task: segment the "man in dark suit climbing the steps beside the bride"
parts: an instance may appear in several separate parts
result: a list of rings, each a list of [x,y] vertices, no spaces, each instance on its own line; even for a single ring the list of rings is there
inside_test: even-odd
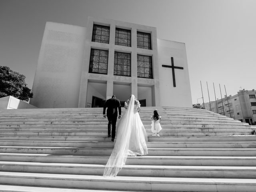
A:
[[[117,108],[118,108],[118,112],[119,112],[118,119],[121,118],[121,104],[115,95],[113,95],[111,99],[108,99],[103,107],[103,117],[104,118],[106,118],[106,108],[108,108],[107,109],[108,137],[111,137],[110,130],[111,130],[111,125],[112,125],[111,141],[114,142],[114,138],[116,136]]]

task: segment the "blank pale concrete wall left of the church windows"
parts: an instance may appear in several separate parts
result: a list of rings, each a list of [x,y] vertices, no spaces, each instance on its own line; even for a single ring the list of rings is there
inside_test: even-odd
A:
[[[30,104],[78,107],[85,32],[80,26],[46,23]]]

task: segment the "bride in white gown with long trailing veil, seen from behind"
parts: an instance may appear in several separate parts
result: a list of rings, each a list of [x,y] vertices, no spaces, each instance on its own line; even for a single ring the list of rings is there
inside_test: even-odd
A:
[[[124,166],[127,156],[148,154],[147,134],[138,114],[140,102],[131,95],[130,100],[125,102],[125,108],[116,126],[116,143],[105,166],[104,177],[115,177]]]

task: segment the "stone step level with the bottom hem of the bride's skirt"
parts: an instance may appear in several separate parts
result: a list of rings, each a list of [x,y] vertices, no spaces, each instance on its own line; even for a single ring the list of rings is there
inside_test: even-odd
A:
[[[0,153],[110,155],[112,148],[0,146]],[[256,156],[256,148],[148,148],[148,156]]]

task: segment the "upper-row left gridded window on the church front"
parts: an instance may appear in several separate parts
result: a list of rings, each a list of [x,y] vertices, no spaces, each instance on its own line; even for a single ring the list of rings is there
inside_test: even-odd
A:
[[[93,25],[92,41],[99,43],[109,43],[110,27],[102,25]]]

